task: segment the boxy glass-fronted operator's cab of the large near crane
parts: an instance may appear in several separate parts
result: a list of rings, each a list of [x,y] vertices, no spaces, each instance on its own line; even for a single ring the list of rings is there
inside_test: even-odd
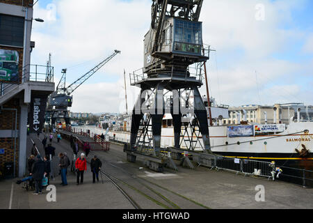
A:
[[[202,22],[166,17],[161,31],[161,42],[152,50],[155,42],[155,30],[145,35],[145,70],[156,66],[161,61],[166,63],[183,63],[184,66],[206,61],[202,56]]]

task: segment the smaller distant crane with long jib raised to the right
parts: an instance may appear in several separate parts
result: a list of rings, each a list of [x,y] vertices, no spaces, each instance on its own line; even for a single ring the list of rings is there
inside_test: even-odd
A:
[[[86,74],[82,75],[75,82],[70,84],[70,86],[66,87],[66,72],[67,69],[62,70],[62,77],[58,86],[56,87],[56,91],[51,93],[48,100],[47,112],[46,112],[46,121],[51,121],[52,127],[55,126],[57,119],[64,119],[66,125],[70,125],[70,116],[68,114],[68,107],[72,107],[73,97],[72,93],[81,86],[84,82],[86,82],[90,77],[92,77],[95,72],[101,69],[106,63],[111,61],[117,54],[120,54],[119,50],[115,50],[111,56],[107,57],[99,63],[97,66],[86,72]]]

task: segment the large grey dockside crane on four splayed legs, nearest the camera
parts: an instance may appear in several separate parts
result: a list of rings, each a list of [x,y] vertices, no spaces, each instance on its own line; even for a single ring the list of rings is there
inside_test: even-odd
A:
[[[193,130],[197,125],[202,134],[204,150],[211,152],[207,110],[198,89],[203,85],[202,65],[209,59],[204,55],[199,22],[202,2],[152,3],[152,22],[144,40],[144,68],[130,74],[131,85],[141,88],[131,117],[131,151],[149,148],[159,156],[163,116],[171,114],[175,148],[181,147],[182,127],[191,123]]]

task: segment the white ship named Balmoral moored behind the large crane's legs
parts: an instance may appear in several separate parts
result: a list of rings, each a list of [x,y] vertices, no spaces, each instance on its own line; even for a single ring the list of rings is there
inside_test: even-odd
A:
[[[244,112],[244,109],[243,109]],[[208,112],[209,114],[209,112]],[[276,112],[273,112],[276,114]],[[305,113],[307,114],[307,112]],[[313,122],[310,116],[300,118],[300,111],[296,112],[296,117],[290,118],[288,123],[281,123],[280,118],[273,117],[273,123],[258,124],[246,121],[246,117],[241,117],[240,124],[225,124],[223,118],[229,118],[227,107],[211,107],[211,116],[214,126],[209,126],[211,151],[216,154],[228,157],[238,157],[251,160],[275,161],[276,164],[284,167],[295,167],[299,169],[313,169]],[[124,117],[124,120],[108,121],[112,128],[107,132],[107,128],[101,126],[90,130],[90,126],[84,128],[95,134],[109,134],[117,141],[129,143],[131,118]],[[190,132],[189,132],[190,133]],[[189,141],[184,141],[181,137],[181,148],[190,148]],[[202,151],[201,136],[193,135],[197,141],[195,150]],[[163,128],[161,132],[161,147],[174,146],[174,128],[172,126],[172,116],[166,114],[163,117]]]

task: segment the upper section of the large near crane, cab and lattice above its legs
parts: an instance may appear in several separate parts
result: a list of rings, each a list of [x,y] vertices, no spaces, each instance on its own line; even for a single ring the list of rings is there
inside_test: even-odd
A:
[[[144,72],[150,76],[162,71],[164,75],[167,70],[185,75],[188,66],[208,59],[202,56],[201,5],[199,1],[167,1],[162,18],[162,12],[153,11],[164,2],[154,1],[152,6],[152,25],[144,40]]]

